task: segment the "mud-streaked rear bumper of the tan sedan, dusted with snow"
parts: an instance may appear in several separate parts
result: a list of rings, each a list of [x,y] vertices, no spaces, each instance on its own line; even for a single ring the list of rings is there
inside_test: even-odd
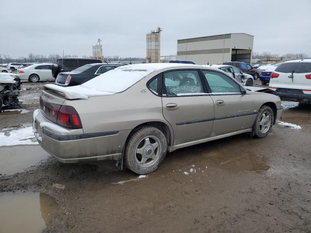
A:
[[[40,127],[49,122],[41,113],[34,116],[34,132],[40,146],[62,163],[77,163],[98,160],[120,160],[124,143],[130,130],[83,133],[82,130],[58,131],[60,127]],[[52,125],[51,125],[52,126]]]

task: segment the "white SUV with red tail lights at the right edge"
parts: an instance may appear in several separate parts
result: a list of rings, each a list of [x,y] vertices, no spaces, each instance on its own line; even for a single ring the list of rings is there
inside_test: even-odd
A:
[[[280,64],[270,75],[269,88],[282,100],[311,103],[311,59]]]

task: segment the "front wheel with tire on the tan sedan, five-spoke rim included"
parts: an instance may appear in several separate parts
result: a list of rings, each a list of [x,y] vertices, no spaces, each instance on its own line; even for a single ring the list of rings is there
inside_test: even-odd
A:
[[[272,109],[267,105],[261,106],[254,124],[254,135],[258,138],[266,137],[271,131],[273,122],[274,113]]]

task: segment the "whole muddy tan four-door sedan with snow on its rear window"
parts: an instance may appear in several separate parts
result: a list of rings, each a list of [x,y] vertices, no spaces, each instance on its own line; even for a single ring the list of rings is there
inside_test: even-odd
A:
[[[265,137],[282,111],[276,95],[245,89],[220,69],[183,64],[129,65],[78,86],[46,84],[40,106],[35,137],[56,159],[118,160],[138,174],[154,171],[167,151],[239,133]]]

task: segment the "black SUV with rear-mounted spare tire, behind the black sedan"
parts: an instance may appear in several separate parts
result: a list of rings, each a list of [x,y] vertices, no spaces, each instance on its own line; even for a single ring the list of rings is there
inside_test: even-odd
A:
[[[52,65],[52,75],[56,78],[60,72],[68,72],[91,63],[102,63],[102,61],[94,58],[58,58],[56,64]]]

